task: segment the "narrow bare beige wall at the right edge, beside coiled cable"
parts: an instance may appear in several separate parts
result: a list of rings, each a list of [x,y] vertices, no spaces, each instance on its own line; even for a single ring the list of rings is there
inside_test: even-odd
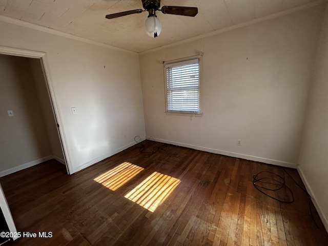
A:
[[[298,170],[328,231],[328,11],[306,116]]]

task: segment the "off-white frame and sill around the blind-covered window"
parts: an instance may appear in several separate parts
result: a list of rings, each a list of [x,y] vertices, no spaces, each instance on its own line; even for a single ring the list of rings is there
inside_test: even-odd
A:
[[[167,67],[174,67],[174,65],[179,66],[183,64],[191,64],[194,60],[198,59],[198,112],[197,111],[182,111],[182,110],[169,110],[168,101],[168,78],[167,78]],[[165,108],[167,115],[182,115],[182,116],[202,116],[200,110],[200,80],[201,80],[201,56],[192,56],[177,60],[163,61],[163,70],[165,77]]]

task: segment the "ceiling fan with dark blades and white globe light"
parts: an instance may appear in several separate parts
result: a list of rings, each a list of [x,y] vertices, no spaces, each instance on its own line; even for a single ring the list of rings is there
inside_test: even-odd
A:
[[[120,16],[125,16],[129,14],[139,14],[144,11],[148,11],[149,15],[146,19],[146,33],[151,37],[157,37],[162,29],[159,19],[156,16],[156,11],[161,11],[163,14],[176,14],[185,16],[196,16],[198,9],[196,7],[182,7],[182,6],[163,6],[160,8],[160,0],[141,0],[142,9],[129,10],[124,12],[119,12],[115,14],[108,14],[106,18],[112,19]]]

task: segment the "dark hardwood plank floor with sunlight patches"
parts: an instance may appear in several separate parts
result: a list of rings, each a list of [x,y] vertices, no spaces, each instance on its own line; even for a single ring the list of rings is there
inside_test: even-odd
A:
[[[308,195],[283,170],[303,187],[294,169],[170,145],[134,146],[71,176],[50,160],[0,179],[17,231],[37,233],[7,245],[327,245]],[[259,192],[261,171],[284,175],[295,201]]]

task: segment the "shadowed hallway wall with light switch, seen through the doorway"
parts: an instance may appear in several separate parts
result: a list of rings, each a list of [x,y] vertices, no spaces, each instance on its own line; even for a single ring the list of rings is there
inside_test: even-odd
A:
[[[28,58],[0,55],[0,78],[1,172],[52,153]]]

